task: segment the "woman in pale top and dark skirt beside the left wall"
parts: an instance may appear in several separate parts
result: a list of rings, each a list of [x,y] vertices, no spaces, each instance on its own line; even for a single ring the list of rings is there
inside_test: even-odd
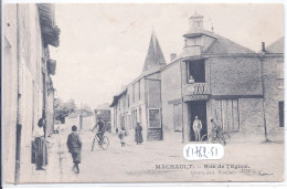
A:
[[[35,127],[34,134],[34,162],[36,165],[36,170],[45,170],[43,166],[47,165],[47,149],[44,138],[44,127],[45,127],[45,119],[40,118],[38,122],[38,127]]]

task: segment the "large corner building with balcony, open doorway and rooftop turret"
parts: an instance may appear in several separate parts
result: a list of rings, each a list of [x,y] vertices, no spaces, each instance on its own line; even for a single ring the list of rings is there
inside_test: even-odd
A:
[[[284,96],[276,69],[283,66],[283,49],[277,54],[267,49],[262,55],[204,30],[198,13],[189,22],[183,52],[161,71],[164,139],[193,141],[195,116],[202,120],[201,135],[210,133],[211,118],[228,133],[256,133],[264,126],[268,130],[279,123]]]

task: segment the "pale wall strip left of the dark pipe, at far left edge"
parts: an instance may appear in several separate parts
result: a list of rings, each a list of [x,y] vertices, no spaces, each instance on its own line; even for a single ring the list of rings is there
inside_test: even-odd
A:
[[[3,180],[14,181],[15,170],[15,127],[18,108],[18,62],[17,62],[17,6],[4,4],[3,8]]]

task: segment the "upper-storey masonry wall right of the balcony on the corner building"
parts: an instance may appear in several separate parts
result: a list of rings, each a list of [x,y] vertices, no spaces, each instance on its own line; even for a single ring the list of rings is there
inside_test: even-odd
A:
[[[221,56],[206,59],[212,95],[262,95],[258,56]],[[205,67],[206,69],[206,67]]]

